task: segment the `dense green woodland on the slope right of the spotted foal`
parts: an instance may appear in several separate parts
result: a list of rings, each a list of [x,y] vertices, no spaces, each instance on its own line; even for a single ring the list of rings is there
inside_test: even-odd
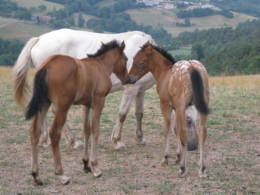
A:
[[[177,60],[200,60],[209,74],[260,74],[260,19],[239,24],[236,29],[211,28],[182,33],[172,44],[192,44],[189,56]]]

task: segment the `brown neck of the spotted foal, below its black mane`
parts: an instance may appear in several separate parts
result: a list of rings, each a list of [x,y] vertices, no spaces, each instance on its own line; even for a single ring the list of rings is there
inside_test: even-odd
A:
[[[151,56],[152,58],[150,61],[153,64],[151,67],[151,72],[155,77],[156,82],[158,83],[166,76],[166,74],[171,72],[172,67],[171,65],[168,65],[169,61],[162,57],[159,52],[153,51]]]

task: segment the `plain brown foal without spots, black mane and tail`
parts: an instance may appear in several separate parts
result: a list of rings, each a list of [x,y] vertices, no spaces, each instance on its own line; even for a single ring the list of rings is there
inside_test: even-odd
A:
[[[26,119],[33,118],[31,124],[31,154],[35,184],[42,185],[37,162],[37,144],[43,130],[44,118],[51,103],[55,108],[55,117],[49,130],[55,174],[60,176],[62,184],[68,184],[69,178],[64,175],[60,160],[59,142],[62,127],[67,120],[71,105],[83,105],[84,171],[94,171],[94,176],[101,176],[97,160],[98,133],[101,111],[105,96],[110,92],[112,72],[123,84],[127,81],[127,58],[123,50],[125,43],[116,40],[102,44],[101,48],[89,58],[78,60],[69,56],[55,55],[46,59],[39,67],[34,80],[33,97],[26,110]],[[90,122],[89,111],[92,109]],[[92,135],[91,159],[89,167],[87,143]]]

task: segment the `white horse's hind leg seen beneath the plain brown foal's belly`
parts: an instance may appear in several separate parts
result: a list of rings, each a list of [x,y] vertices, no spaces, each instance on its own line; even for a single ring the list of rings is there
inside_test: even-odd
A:
[[[55,115],[54,107],[53,114]],[[72,133],[71,128],[69,128],[69,124],[67,124],[67,122],[65,122],[62,130],[65,135],[66,143],[69,149],[73,147],[73,149],[83,150],[83,142],[77,139],[76,135]]]

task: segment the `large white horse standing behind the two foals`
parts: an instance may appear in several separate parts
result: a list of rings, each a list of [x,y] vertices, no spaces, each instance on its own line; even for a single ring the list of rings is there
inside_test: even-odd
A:
[[[70,29],[61,29],[52,31],[41,35],[40,37],[33,37],[28,40],[24,49],[22,49],[15,67],[13,74],[15,78],[15,96],[19,94],[28,94],[30,87],[27,83],[27,72],[31,64],[39,67],[42,62],[49,56],[55,54],[63,54],[73,58],[86,58],[87,53],[95,53],[100,47],[101,42],[110,42],[111,40],[125,41],[125,55],[128,57],[128,71],[132,66],[132,59],[135,53],[139,51],[140,46],[149,41],[155,44],[152,37],[139,31],[132,31],[128,33],[119,34],[101,34],[91,33],[87,31],[73,31]],[[121,130],[123,122],[128,114],[130,105],[135,99],[135,115],[137,118],[137,129],[135,139],[137,144],[146,144],[146,139],[141,131],[141,120],[144,112],[144,95],[146,90],[150,89],[155,84],[153,75],[149,72],[143,78],[137,81],[135,85],[121,84],[119,78],[114,74],[111,76],[112,89],[110,93],[119,90],[124,90],[121,105],[119,107],[119,117],[116,120],[116,125],[112,133],[111,141],[115,149],[125,149],[125,145],[121,141]],[[16,99],[21,108],[25,108],[28,101],[26,99]],[[45,123],[44,132],[42,132],[41,142],[44,146],[50,144],[49,134]],[[74,149],[83,149],[83,143],[71,132],[69,125],[64,124],[64,135],[67,139],[67,144],[73,146]]]

